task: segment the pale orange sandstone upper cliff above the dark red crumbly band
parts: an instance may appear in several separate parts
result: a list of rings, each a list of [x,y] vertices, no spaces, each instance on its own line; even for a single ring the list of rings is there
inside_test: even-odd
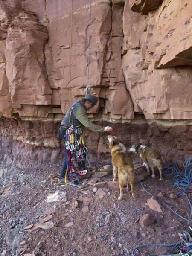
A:
[[[94,118],[192,119],[190,0],[12,0],[0,10],[0,116],[59,119],[89,84]]]

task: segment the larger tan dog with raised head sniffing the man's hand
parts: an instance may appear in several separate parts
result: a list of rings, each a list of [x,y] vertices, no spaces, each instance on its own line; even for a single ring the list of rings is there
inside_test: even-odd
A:
[[[132,196],[135,196],[134,192],[134,164],[128,150],[123,143],[115,136],[108,135],[109,148],[112,157],[113,164],[113,181],[116,181],[116,175],[118,171],[120,195],[119,200],[123,198],[123,186],[126,182],[131,184]],[[128,189],[128,185],[127,185]]]

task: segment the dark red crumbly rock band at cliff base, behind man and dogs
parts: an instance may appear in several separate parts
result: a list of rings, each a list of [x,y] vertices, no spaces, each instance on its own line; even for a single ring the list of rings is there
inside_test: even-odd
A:
[[[107,125],[108,122],[96,122]],[[0,160],[23,166],[41,164],[61,164],[64,159],[64,143],[58,139],[59,122],[24,121],[21,119],[0,119]],[[132,144],[143,143],[160,151],[164,165],[176,161],[182,165],[186,158],[192,157],[191,125],[151,124],[113,124],[114,134],[127,148]],[[108,138],[104,133],[87,130],[86,144],[88,156],[93,166],[111,164]],[[140,157],[131,154],[136,163]]]

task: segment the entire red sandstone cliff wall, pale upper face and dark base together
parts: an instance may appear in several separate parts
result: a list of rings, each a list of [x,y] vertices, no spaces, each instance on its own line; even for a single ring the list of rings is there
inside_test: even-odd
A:
[[[143,140],[165,163],[191,156],[191,0],[0,0],[0,12],[7,155],[61,160],[58,125],[89,85],[89,117],[128,146]],[[105,134],[87,131],[87,144],[92,161],[110,160]]]

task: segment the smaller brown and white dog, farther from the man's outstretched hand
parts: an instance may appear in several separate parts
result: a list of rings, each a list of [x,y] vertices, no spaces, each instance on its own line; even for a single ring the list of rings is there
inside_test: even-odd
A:
[[[141,159],[143,160],[143,165],[145,165],[147,168],[148,175],[150,175],[149,168],[151,168],[152,178],[155,177],[154,168],[157,167],[160,173],[160,180],[163,180],[162,178],[163,163],[162,163],[162,159],[159,151],[150,147],[146,147],[141,144],[135,144],[135,145],[132,145],[131,148],[129,148],[129,152],[134,152],[141,157]]]

